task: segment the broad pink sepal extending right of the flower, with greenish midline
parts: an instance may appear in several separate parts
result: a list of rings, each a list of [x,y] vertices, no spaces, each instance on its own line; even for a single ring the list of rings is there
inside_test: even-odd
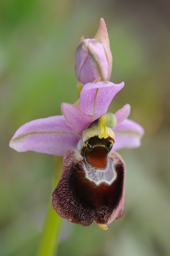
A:
[[[130,119],[126,119],[112,130],[115,133],[113,150],[121,148],[138,148],[141,145],[141,138],[145,133],[140,124]]]

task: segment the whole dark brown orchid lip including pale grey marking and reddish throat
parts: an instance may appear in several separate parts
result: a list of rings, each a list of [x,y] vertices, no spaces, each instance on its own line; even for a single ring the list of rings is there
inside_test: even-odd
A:
[[[122,216],[125,165],[115,151],[109,153],[111,143],[109,138],[94,138],[81,154],[75,150],[65,154],[52,202],[62,218],[83,226],[96,221],[101,227]]]

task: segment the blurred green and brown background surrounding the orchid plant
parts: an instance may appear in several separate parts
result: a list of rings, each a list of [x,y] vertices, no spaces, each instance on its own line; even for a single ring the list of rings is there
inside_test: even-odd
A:
[[[0,2],[0,254],[36,254],[51,194],[52,156],[16,153],[14,132],[32,119],[60,115],[77,100],[74,57],[80,37],[107,24],[113,71],[125,82],[109,110],[130,103],[146,131],[126,163],[125,212],[108,231],[63,220],[60,256],[170,255],[169,15],[166,0]],[[47,255],[48,256],[48,255]]]

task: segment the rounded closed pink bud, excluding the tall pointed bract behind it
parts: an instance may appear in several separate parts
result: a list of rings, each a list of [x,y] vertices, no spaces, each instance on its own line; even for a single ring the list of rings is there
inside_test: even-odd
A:
[[[75,55],[75,74],[82,84],[108,77],[108,63],[103,44],[96,39],[84,39]]]

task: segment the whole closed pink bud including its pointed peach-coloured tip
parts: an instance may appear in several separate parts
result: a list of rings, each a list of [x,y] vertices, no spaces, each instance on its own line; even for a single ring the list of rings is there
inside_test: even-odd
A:
[[[104,19],[93,39],[83,39],[75,54],[75,75],[80,83],[94,82],[98,77],[108,81],[112,71],[112,53]]]

